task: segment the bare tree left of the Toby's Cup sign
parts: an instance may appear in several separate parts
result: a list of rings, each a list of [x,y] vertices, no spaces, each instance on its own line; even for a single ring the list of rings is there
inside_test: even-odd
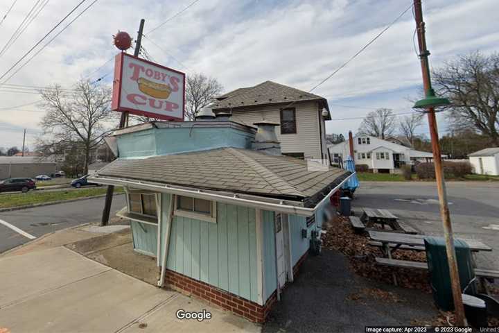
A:
[[[46,113],[40,122],[44,139],[39,146],[46,150],[46,146],[71,142],[71,146],[80,147],[83,172],[87,173],[90,151],[109,133],[107,121],[116,118],[110,111],[111,89],[80,80],[73,92],[55,85],[40,94]]]

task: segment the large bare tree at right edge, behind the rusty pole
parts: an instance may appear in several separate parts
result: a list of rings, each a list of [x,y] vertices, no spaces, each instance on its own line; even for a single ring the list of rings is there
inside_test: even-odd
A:
[[[432,74],[439,93],[453,103],[452,128],[477,130],[499,146],[499,53],[459,56]]]

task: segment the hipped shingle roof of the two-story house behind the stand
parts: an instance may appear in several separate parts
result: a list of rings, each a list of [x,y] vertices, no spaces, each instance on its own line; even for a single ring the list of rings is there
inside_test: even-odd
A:
[[[327,105],[324,97],[272,81],[265,81],[254,87],[239,88],[218,96],[218,99],[223,97],[225,99],[213,104],[213,110],[296,101],[324,101]]]

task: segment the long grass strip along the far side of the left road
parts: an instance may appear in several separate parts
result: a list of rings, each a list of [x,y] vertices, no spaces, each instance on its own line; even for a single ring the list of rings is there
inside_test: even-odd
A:
[[[49,203],[51,201],[85,198],[87,196],[100,196],[105,193],[106,187],[92,187],[91,189],[76,189],[71,191],[30,191],[28,193],[4,194],[0,196],[0,208]],[[114,193],[123,193],[123,188],[116,187]]]

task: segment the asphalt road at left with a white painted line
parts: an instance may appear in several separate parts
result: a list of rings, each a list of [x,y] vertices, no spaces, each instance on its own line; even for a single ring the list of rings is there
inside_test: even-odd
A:
[[[114,196],[111,207],[112,215],[121,210],[123,206],[125,206],[125,197],[122,194]],[[27,210],[0,212],[0,253],[24,244],[33,237],[40,237],[46,233],[75,225],[100,221],[103,207],[104,198],[101,197]]]

